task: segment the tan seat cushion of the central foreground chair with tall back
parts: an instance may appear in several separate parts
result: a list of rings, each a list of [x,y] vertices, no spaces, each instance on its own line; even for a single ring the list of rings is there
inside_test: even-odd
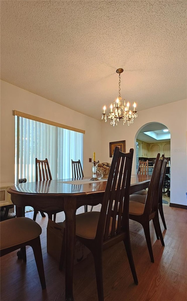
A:
[[[97,224],[99,221],[100,212],[90,211],[76,215],[76,235],[88,239],[94,239],[97,231]],[[63,222],[65,227],[65,221]],[[111,233],[112,217],[109,226],[109,235]],[[116,222],[117,229],[117,222]]]

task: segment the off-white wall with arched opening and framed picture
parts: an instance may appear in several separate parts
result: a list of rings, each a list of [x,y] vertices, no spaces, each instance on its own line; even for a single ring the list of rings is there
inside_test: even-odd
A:
[[[179,113],[180,112],[180,113]],[[111,162],[109,142],[126,141],[126,152],[132,147],[136,150],[136,137],[144,125],[150,122],[163,123],[171,133],[171,183],[170,202],[187,205],[187,100],[154,107],[138,112],[138,118],[130,126],[118,124],[111,126],[109,120],[102,126],[101,162]],[[134,158],[136,154],[134,154]],[[133,173],[136,172],[133,160]]]

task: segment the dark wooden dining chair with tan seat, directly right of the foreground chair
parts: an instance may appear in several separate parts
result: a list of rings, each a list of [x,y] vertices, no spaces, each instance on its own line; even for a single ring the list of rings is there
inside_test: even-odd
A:
[[[138,196],[138,194],[131,194],[129,197],[129,219],[139,222],[143,226],[151,262],[154,262],[149,227],[149,222],[151,220],[153,220],[157,239],[160,237],[160,241],[164,246],[164,240],[158,216],[158,198],[163,163],[164,157],[160,157],[160,154],[157,154],[157,159],[154,166],[155,172],[151,176],[147,195],[145,196],[145,202],[138,202],[138,199],[140,200],[144,198],[142,195]]]

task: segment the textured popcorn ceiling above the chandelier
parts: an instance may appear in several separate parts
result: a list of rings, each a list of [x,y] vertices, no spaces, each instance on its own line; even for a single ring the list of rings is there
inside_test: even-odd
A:
[[[1,79],[100,119],[187,98],[186,1],[0,1]]]

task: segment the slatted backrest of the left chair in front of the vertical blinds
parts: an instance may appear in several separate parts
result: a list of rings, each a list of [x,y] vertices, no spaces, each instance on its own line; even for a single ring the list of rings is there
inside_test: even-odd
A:
[[[35,159],[36,166],[36,182],[52,180],[52,175],[49,168],[49,162],[47,158],[45,160]]]

